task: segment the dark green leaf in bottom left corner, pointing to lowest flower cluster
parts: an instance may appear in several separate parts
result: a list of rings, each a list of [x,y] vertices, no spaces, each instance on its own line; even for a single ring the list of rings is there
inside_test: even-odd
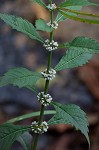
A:
[[[0,149],[10,150],[13,142],[24,132],[30,130],[29,126],[5,123],[0,125]]]

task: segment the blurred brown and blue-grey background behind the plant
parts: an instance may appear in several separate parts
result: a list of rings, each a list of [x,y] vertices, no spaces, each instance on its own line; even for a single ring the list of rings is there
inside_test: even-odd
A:
[[[48,1],[45,1],[48,4]],[[59,4],[61,0],[55,3]],[[98,0],[93,2],[99,3]],[[86,7],[83,11],[99,13],[99,7]],[[49,13],[29,0],[0,0],[0,12],[14,14],[26,18],[35,25],[39,18],[49,21]],[[49,34],[40,33],[44,39]],[[59,24],[55,31],[55,41],[60,43],[71,41],[76,36],[88,36],[99,41],[99,26],[88,25],[71,20]],[[65,53],[65,49],[54,52],[52,66],[54,67]],[[0,75],[13,67],[26,67],[33,71],[46,68],[47,52],[37,41],[29,39],[24,34],[12,30],[0,20]],[[44,83],[37,84],[43,90]],[[91,150],[99,150],[99,55],[94,55],[85,66],[63,70],[50,84],[49,93],[54,101],[62,104],[74,103],[79,105],[88,115],[90,122]],[[19,115],[38,111],[40,105],[36,95],[22,88],[7,86],[0,88],[0,124]],[[51,116],[50,116],[51,117]],[[46,117],[49,119],[50,117]],[[38,118],[34,118],[38,119]],[[31,124],[33,118],[19,122]],[[31,136],[26,134],[31,140]],[[23,150],[14,143],[12,150]],[[57,125],[50,127],[47,134],[40,136],[38,150],[88,150],[88,144],[80,132],[71,126]]]

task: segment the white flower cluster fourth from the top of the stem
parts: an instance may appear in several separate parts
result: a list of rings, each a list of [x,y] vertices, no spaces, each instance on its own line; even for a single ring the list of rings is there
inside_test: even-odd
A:
[[[47,72],[47,69],[43,72],[41,72],[45,80],[52,80],[55,78],[56,71],[54,69],[50,69],[49,72]]]

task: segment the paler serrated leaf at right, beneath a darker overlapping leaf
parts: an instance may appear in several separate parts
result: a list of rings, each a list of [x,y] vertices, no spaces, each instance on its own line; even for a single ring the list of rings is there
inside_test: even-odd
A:
[[[56,65],[55,70],[70,69],[86,64],[92,58],[92,53],[88,53],[85,49],[69,49]]]

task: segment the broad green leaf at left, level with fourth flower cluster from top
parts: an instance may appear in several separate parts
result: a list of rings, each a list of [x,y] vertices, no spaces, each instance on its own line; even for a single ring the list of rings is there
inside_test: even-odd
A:
[[[13,68],[1,77],[0,87],[13,84],[19,88],[27,87],[31,89],[41,77],[41,73],[32,72],[26,68]]]

